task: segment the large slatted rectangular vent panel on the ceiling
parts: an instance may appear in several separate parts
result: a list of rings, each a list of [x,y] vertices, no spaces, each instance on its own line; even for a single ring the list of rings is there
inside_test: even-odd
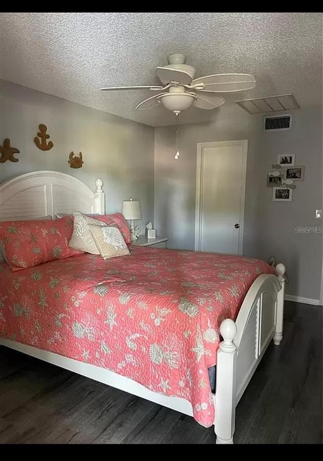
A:
[[[264,96],[263,98],[245,99],[236,101],[236,104],[248,112],[248,114],[268,114],[282,112],[284,110],[300,109],[292,93],[288,95]]]

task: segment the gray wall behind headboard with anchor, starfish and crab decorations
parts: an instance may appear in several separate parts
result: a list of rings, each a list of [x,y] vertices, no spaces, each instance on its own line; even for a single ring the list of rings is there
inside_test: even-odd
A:
[[[0,80],[0,144],[6,137],[20,150],[19,162],[0,163],[0,182],[35,170],[57,170],[84,181],[91,189],[103,180],[106,212],[121,211],[122,200],[140,200],[144,225],[153,219],[154,129]],[[39,150],[33,139],[38,124],[47,125],[54,147]],[[71,151],[84,164],[72,169]]]

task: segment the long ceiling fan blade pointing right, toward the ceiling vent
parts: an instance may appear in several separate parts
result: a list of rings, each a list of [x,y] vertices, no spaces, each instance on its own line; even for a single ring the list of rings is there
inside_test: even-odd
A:
[[[228,93],[242,91],[256,86],[256,81],[249,74],[215,74],[195,78],[191,85],[204,83],[205,88],[200,91],[214,91],[214,93]]]

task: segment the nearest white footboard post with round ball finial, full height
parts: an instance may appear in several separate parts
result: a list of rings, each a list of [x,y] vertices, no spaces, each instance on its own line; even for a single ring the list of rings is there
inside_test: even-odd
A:
[[[214,431],[217,443],[233,443],[236,420],[236,358],[237,347],[233,339],[237,326],[233,320],[226,318],[220,326],[223,341],[217,354],[217,381]]]

